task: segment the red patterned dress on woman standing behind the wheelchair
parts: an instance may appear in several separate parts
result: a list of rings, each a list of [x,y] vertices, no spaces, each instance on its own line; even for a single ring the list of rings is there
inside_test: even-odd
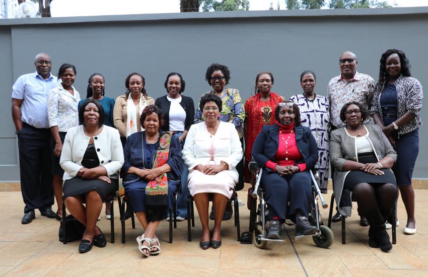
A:
[[[286,99],[278,94],[270,92],[269,101],[260,101],[260,94],[250,97],[245,101],[245,117],[247,118],[247,129],[245,133],[245,180],[250,180],[248,163],[251,161],[251,151],[254,141],[261,131],[263,125],[272,125],[276,122],[274,111],[280,102]]]

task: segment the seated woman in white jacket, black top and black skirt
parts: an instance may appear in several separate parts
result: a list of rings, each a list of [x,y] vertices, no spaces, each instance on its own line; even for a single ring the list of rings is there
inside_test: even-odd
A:
[[[79,110],[81,125],[69,128],[62,147],[60,165],[64,169],[65,205],[86,226],[79,252],[107,241],[96,225],[103,199],[117,190],[117,171],[123,165],[123,149],[118,130],[103,125],[104,109],[89,99]],[[86,207],[83,203],[86,203]]]

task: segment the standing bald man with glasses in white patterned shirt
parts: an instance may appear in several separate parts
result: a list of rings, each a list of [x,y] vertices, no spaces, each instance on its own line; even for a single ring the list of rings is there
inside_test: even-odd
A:
[[[365,105],[369,110],[372,106],[375,80],[369,75],[358,73],[356,71],[357,64],[358,59],[354,53],[350,51],[343,52],[339,58],[341,73],[328,83],[327,99],[330,103],[330,131],[346,125],[340,120],[340,109],[344,104],[356,101]],[[331,166],[331,176],[333,177],[333,175],[334,167]],[[341,215],[337,212],[332,221],[339,222],[341,219]],[[362,217],[360,225],[369,226],[369,223]]]

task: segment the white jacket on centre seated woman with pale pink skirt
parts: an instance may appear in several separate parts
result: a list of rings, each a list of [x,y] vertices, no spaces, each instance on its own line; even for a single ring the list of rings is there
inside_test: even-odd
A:
[[[183,160],[189,171],[193,172],[193,168],[199,164],[209,163],[211,146],[216,164],[220,165],[221,161],[228,163],[229,170],[226,172],[238,180],[239,175],[235,167],[243,155],[241,142],[235,125],[223,121],[220,121],[216,134],[212,136],[206,129],[204,121],[190,126],[183,148]]]

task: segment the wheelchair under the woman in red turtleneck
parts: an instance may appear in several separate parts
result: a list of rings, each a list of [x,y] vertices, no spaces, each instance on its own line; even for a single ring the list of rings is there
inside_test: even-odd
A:
[[[264,190],[260,186],[261,175],[263,168],[261,168],[257,162],[253,159],[249,164],[248,168],[252,174],[251,188],[248,195],[248,209],[250,210],[250,233],[252,233],[252,241],[257,248],[263,249],[266,247],[268,241],[273,242],[285,242],[284,240],[268,239],[266,231],[266,222],[269,221],[269,210],[267,209],[267,203],[264,199]],[[317,227],[317,232],[312,235],[295,237],[296,240],[312,236],[313,241],[318,247],[328,248],[333,244],[334,235],[330,228],[323,225],[321,221],[321,215],[318,207],[318,197],[321,199],[322,207],[327,209],[328,204],[322,197],[321,191],[318,186],[319,166],[315,165],[312,170],[309,171],[312,179],[312,199],[309,210],[308,219],[312,226]],[[250,196],[251,192],[251,196]],[[253,199],[251,199],[253,198]],[[257,198],[258,203],[257,203]],[[288,203],[289,205],[290,203]],[[286,223],[287,225],[293,225]]]

